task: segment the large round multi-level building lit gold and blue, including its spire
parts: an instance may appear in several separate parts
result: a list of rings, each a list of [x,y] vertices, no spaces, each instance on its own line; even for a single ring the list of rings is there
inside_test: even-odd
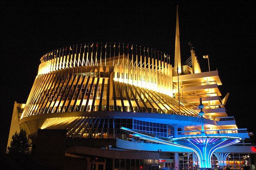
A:
[[[171,60],[151,48],[115,43],[81,44],[45,54],[26,104],[14,103],[8,145],[20,128],[30,138],[38,129],[64,129],[66,156],[86,159],[88,170],[197,170],[202,166],[193,150],[166,141],[228,136],[240,143],[216,149],[210,166],[253,170],[251,155],[256,151],[246,142],[246,129],[238,129],[226,113],[228,94],[222,97],[218,89],[218,70],[202,72],[192,47],[191,56],[181,63],[178,10]]]

